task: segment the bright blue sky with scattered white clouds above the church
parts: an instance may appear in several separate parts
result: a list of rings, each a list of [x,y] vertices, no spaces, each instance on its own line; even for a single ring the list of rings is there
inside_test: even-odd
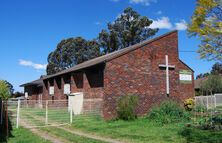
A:
[[[156,36],[177,29],[179,56],[195,76],[211,70],[214,62],[201,60],[199,40],[188,37],[187,23],[195,0],[0,0],[0,79],[19,85],[46,74],[47,56],[62,40],[96,38],[125,8],[153,20]]]

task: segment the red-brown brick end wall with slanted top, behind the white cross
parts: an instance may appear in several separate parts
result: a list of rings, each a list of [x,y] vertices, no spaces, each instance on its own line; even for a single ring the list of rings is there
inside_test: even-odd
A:
[[[169,72],[170,98],[181,101],[194,95],[193,84],[179,82],[179,71],[188,67],[178,59],[177,32],[174,32],[107,62],[103,101],[106,119],[116,116],[116,101],[125,94],[139,96],[139,115],[146,114],[154,104],[168,99],[166,71],[159,68],[159,64],[165,64],[166,54],[169,56],[169,64],[175,65],[175,69]]]

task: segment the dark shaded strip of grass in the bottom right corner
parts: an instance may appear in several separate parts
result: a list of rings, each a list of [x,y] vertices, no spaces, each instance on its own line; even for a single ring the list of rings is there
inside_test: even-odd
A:
[[[179,133],[189,143],[221,143],[222,131],[201,130],[195,127],[184,127]]]

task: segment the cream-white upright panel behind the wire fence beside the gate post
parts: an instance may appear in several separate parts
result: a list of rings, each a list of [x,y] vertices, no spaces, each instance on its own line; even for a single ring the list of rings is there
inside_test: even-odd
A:
[[[74,115],[79,115],[82,113],[83,110],[83,93],[77,92],[77,93],[71,93],[69,95],[69,111],[72,108],[72,111]]]

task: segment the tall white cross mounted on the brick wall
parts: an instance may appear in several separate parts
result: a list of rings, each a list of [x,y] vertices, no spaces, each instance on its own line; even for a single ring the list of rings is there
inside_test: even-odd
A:
[[[166,94],[169,96],[170,94],[170,82],[169,82],[169,69],[174,69],[175,65],[169,65],[168,55],[165,55],[166,64],[160,64],[160,68],[166,68]]]

